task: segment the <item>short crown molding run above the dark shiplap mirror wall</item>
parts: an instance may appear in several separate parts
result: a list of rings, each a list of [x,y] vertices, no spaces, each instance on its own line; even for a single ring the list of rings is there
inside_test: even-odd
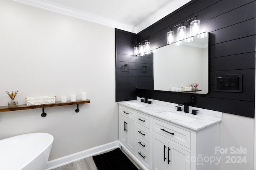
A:
[[[183,5],[187,4],[191,0],[174,0],[170,4],[166,5],[164,8],[160,9],[158,12],[150,16],[147,20],[140,23],[136,26],[137,33],[142,31],[143,29],[149,27],[150,25],[156,23],[157,21],[161,20],[162,18],[168,16],[178,8],[182,7]]]

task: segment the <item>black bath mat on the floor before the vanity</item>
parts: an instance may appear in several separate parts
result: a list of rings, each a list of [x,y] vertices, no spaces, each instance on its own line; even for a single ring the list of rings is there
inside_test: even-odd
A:
[[[98,170],[138,170],[119,148],[92,158]]]

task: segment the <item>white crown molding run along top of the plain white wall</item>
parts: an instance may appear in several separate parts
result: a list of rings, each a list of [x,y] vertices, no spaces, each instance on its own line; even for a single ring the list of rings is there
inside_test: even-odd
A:
[[[137,32],[136,27],[134,27],[134,26],[127,25],[127,24],[124,24],[124,23],[121,23],[118,21],[110,20],[110,19],[104,18],[102,16],[90,14],[88,12],[84,12],[81,10],[76,10],[74,8],[70,8],[68,6],[57,4],[55,2],[51,2],[48,0],[13,0],[13,1],[20,2],[22,4],[26,4],[26,5],[30,5],[30,6],[35,6],[38,8],[42,8],[44,10],[49,10],[52,12],[57,12],[60,14],[72,16],[75,18],[80,18],[82,20],[91,21],[94,23],[98,23],[100,25],[114,27],[114,28],[122,29],[124,31],[129,31],[132,33]]]

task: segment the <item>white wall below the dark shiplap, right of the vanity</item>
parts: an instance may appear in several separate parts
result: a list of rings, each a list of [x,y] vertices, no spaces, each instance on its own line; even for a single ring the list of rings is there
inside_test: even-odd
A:
[[[226,149],[222,156],[220,170],[254,169],[254,119],[239,115],[222,113],[221,149]],[[233,148],[231,148],[233,147]],[[240,151],[243,153],[234,152]],[[246,149],[246,150],[245,150]],[[247,160],[245,163],[243,161]],[[241,160],[239,163],[239,160]]]

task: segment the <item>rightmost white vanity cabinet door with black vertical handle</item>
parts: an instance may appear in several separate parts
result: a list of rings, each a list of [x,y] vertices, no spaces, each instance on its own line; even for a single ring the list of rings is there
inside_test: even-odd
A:
[[[168,170],[190,170],[190,152],[184,150],[177,145],[169,142],[169,167]],[[168,159],[168,158],[167,158]]]

